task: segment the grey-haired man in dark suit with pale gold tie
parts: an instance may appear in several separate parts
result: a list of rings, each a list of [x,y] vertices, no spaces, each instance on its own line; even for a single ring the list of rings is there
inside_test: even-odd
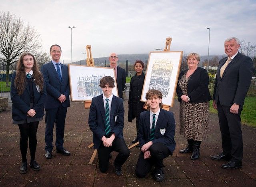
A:
[[[242,167],[240,115],[252,80],[252,59],[240,54],[239,47],[237,38],[228,38],[224,42],[228,57],[219,62],[213,94],[212,105],[218,110],[223,152],[211,158],[229,160],[228,163],[221,165],[225,169]]]

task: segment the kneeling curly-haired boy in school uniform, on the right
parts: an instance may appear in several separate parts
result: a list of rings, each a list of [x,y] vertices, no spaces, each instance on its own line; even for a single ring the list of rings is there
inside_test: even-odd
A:
[[[175,119],[170,111],[162,109],[162,93],[149,90],[146,93],[149,111],[140,113],[138,139],[140,155],[136,165],[136,176],[145,177],[155,166],[153,177],[164,180],[163,159],[172,155],[175,149]]]

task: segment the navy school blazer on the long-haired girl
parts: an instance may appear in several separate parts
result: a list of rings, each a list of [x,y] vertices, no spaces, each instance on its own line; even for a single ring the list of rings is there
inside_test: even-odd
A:
[[[12,119],[22,120],[27,118],[27,112],[30,108],[30,90],[28,84],[21,95],[14,86],[14,80],[16,77],[16,72],[12,74],[11,82],[11,99],[12,99]],[[33,79],[33,77],[31,78]],[[34,105],[32,109],[36,111],[35,117],[40,118],[44,116],[44,101],[46,98],[46,88],[43,87],[42,92],[38,92],[34,79],[32,80],[32,87],[34,92]]]

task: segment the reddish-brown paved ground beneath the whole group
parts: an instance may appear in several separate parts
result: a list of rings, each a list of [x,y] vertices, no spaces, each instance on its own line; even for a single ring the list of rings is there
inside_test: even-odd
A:
[[[125,104],[124,137],[127,145],[136,135],[135,120],[127,122],[127,96]],[[175,101],[176,149],[173,156],[164,159],[166,179],[158,183],[147,175],[145,179],[135,176],[135,165],[140,150],[131,149],[131,154],[122,167],[123,175],[113,173],[113,161],[107,173],[98,169],[98,158],[88,165],[94,149],[87,148],[92,143],[92,132],[88,126],[89,109],[84,109],[83,102],[71,102],[66,118],[64,147],[71,156],[63,156],[53,151],[53,158],[44,158],[44,128],[41,121],[38,127],[38,144],[36,161],[42,166],[41,171],[28,168],[27,174],[20,174],[21,155],[19,149],[19,129],[12,125],[11,108],[0,113],[0,186],[256,186],[256,129],[242,126],[244,137],[243,168],[225,170],[220,167],[225,161],[213,161],[210,155],[220,153],[221,139],[218,127],[218,116],[210,114],[208,139],[202,141],[200,159],[192,161],[190,154],[180,154],[179,150],[186,146],[186,139],[179,132],[179,103]],[[55,135],[54,135],[55,137]],[[116,153],[113,153],[113,157]],[[29,158],[28,153],[28,160]]]

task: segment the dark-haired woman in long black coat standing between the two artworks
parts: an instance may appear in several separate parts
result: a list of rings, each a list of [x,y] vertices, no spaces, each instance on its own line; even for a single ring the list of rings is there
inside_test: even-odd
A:
[[[136,117],[137,137],[132,141],[132,143],[136,143],[138,141],[138,125],[140,121],[140,113],[142,111],[145,111],[145,109],[143,109],[145,102],[140,101],[145,79],[145,74],[142,72],[142,70],[144,69],[144,63],[141,60],[137,60],[134,63],[134,69],[136,71],[136,75],[132,77],[130,82],[130,92],[128,100],[128,121],[132,122],[132,119]]]

